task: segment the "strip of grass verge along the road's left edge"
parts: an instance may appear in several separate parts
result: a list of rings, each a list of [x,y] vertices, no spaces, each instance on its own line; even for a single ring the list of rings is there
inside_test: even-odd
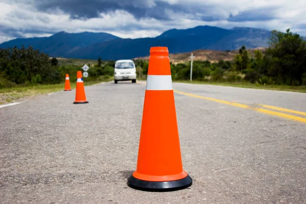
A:
[[[104,79],[100,78],[95,81],[86,82],[84,79],[84,86],[89,86],[93,84],[98,84],[101,82],[111,81],[113,78]],[[75,88],[75,83],[71,83],[71,89]],[[0,105],[10,103],[14,100],[24,97],[33,97],[38,94],[47,94],[52,92],[58,92],[64,90],[65,83],[61,84],[48,84],[48,85],[30,85],[30,86],[16,86],[12,88],[0,89]]]

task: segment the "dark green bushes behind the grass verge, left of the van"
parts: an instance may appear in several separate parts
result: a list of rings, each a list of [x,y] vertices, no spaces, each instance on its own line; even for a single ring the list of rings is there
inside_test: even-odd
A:
[[[85,63],[62,63],[62,60],[52,58],[40,53],[39,50],[17,47],[0,49],[0,88],[18,86],[59,84],[65,82],[66,73],[69,74],[70,82],[77,80],[77,71],[82,70]],[[106,62],[102,65],[99,59],[98,64],[91,65],[88,70],[89,77],[86,82],[109,79],[114,74],[114,62]],[[82,70],[83,71],[83,70]]]

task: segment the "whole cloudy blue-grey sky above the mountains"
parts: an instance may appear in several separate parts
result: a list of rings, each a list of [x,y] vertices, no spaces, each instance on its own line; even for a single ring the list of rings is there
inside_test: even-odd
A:
[[[306,0],[0,0],[0,43],[60,31],[155,37],[197,25],[290,28],[306,36]]]

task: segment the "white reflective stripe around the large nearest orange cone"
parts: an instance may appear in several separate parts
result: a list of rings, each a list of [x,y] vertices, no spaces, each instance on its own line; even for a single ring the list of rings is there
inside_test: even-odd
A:
[[[146,90],[173,90],[171,75],[147,75]]]

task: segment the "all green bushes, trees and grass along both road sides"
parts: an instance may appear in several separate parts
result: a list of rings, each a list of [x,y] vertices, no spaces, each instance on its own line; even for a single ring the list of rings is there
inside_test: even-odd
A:
[[[114,63],[101,58],[50,58],[31,46],[0,49],[0,103],[62,90],[66,73],[74,87],[84,64],[90,67],[85,85],[112,80]],[[135,60],[135,64],[138,79],[146,79],[148,61]],[[170,67],[173,81],[189,82],[190,62]],[[259,50],[250,55],[242,46],[233,61],[194,61],[192,77],[192,83],[306,92],[306,42],[289,29],[272,31],[265,55]]]

